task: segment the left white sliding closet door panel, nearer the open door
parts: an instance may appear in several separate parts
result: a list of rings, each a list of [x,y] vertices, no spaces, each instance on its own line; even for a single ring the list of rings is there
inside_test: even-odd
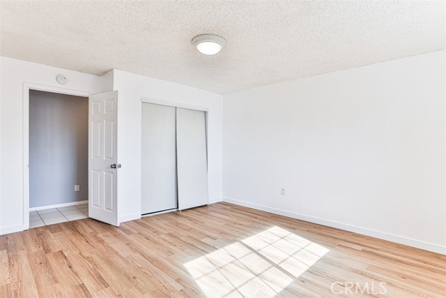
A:
[[[141,214],[177,208],[176,108],[142,103]]]

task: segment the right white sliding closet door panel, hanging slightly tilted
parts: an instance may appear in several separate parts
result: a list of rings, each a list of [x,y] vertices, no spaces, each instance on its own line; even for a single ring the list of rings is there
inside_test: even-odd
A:
[[[208,204],[206,120],[203,111],[176,108],[178,209]]]

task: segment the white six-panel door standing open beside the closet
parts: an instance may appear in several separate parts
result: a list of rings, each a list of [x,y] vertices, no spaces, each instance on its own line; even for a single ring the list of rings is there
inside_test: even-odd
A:
[[[119,225],[118,91],[89,96],[89,216]]]

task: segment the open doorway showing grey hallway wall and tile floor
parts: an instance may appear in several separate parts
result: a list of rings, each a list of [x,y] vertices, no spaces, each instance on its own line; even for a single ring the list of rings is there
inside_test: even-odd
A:
[[[28,100],[29,228],[88,217],[89,98],[30,88]]]

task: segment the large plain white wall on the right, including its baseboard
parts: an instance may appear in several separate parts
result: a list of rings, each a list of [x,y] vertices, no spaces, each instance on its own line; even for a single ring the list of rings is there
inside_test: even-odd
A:
[[[224,96],[224,200],[446,253],[445,82],[440,51]]]

